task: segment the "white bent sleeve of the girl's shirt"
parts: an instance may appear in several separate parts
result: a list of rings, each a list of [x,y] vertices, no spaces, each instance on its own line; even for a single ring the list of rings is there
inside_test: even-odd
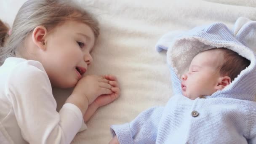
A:
[[[51,83],[42,64],[19,64],[8,78],[7,95],[23,138],[30,144],[69,144],[81,128],[83,115],[74,104],[56,111]]]

